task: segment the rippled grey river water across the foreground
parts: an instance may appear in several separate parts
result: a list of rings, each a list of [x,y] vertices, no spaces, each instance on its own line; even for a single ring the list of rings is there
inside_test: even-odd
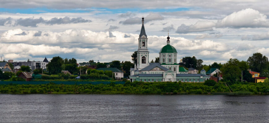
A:
[[[269,122],[269,96],[0,94],[0,122]]]

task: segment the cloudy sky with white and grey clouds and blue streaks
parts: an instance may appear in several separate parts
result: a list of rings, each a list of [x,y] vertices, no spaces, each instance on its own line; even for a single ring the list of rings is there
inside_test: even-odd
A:
[[[269,56],[267,0],[1,0],[0,56],[6,61],[131,61],[145,19],[149,59],[170,44],[203,64]]]

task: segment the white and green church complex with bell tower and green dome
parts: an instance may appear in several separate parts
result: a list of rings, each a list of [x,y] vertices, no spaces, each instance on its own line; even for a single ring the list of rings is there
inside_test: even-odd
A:
[[[149,51],[147,49],[147,34],[142,18],[142,28],[138,38],[137,63],[135,68],[130,69],[130,81],[158,82],[158,81],[181,81],[181,82],[204,82],[210,78],[205,70],[199,74],[180,72],[177,64],[177,50],[170,45],[170,37],[167,37],[167,45],[161,48],[159,63],[149,63]]]

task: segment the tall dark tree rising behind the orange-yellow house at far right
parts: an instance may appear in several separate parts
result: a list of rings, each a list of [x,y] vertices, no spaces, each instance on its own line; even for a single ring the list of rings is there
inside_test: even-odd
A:
[[[268,58],[261,53],[254,53],[247,62],[252,71],[261,73],[263,70],[268,70]]]

